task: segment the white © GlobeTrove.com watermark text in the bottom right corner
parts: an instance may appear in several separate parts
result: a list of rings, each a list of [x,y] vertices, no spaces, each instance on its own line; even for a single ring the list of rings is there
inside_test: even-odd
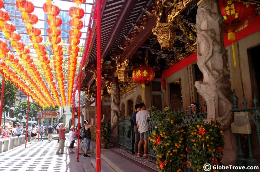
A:
[[[210,171],[211,170],[211,164],[204,164],[203,169],[205,171]],[[229,170],[229,169],[246,169],[246,170],[250,170],[250,169],[259,169],[259,166],[233,166],[233,165],[228,165],[228,166],[224,166],[224,165],[213,165],[212,166],[213,170]]]

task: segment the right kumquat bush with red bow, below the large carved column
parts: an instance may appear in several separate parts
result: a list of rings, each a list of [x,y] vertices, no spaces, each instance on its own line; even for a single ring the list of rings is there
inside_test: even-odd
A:
[[[201,171],[204,164],[222,165],[224,133],[220,123],[197,121],[187,128],[187,152],[193,171]],[[218,172],[218,170],[213,170]]]

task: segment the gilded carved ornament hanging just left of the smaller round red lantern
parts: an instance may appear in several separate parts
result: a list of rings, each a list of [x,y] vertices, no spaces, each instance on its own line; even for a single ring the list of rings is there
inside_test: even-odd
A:
[[[115,56],[115,60],[117,63],[117,70],[115,72],[115,77],[117,77],[120,82],[126,82],[128,78],[127,66],[129,61],[126,59],[122,63],[120,63],[121,55]]]

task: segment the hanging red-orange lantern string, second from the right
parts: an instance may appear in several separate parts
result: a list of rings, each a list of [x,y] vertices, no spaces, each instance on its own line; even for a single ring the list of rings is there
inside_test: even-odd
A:
[[[64,89],[64,74],[62,68],[62,61],[63,61],[63,51],[62,45],[60,44],[60,26],[62,24],[61,18],[58,16],[60,13],[60,8],[52,3],[51,0],[46,0],[46,3],[43,4],[43,11],[45,14],[48,15],[47,23],[50,26],[47,29],[47,33],[49,35],[49,42],[52,43],[53,49],[53,63],[54,69],[57,76],[57,82],[60,90],[60,96],[63,106],[66,104],[66,97],[65,97],[65,89]]]

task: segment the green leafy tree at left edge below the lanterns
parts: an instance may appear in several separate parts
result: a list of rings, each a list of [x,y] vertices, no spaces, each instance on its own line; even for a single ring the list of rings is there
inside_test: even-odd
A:
[[[3,78],[3,75],[0,75]],[[12,101],[16,98],[17,87],[11,83],[7,78],[4,84],[4,96],[3,96],[3,111],[8,112],[12,106]],[[0,82],[0,93],[2,92],[2,82]],[[1,97],[0,97],[1,100]],[[2,100],[1,100],[2,101]]]

